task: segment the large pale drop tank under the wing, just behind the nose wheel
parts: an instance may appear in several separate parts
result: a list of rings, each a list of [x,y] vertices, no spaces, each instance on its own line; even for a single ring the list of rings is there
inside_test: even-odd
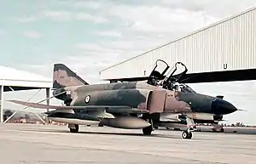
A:
[[[119,116],[116,118],[103,119],[101,122],[108,127],[126,128],[126,129],[140,129],[143,127],[151,126],[149,122],[141,118],[131,116]]]

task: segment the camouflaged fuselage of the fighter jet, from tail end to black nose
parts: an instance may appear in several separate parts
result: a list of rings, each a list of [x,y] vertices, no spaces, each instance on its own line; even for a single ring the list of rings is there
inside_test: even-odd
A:
[[[149,93],[153,90],[158,90],[157,87],[148,85],[146,82],[119,82],[82,85],[66,87],[65,89],[70,94],[65,94],[66,96],[58,95],[56,98],[64,100],[65,102],[70,102],[68,105],[129,106],[134,109],[143,110],[148,110],[146,103],[148,102]],[[54,95],[63,91],[64,88],[55,90]],[[236,111],[236,107],[234,105],[231,105],[224,99],[219,99],[217,97],[201,93],[183,93],[181,91],[169,90],[166,90],[166,93],[169,93],[170,96],[177,100],[172,100],[172,104],[175,102],[183,102],[183,105],[189,105],[191,111],[187,112],[186,115],[191,115],[195,119],[195,122],[220,121],[222,120],[223,115]],[[159,95],[158,99],[162,102],[162,105],[160,106],[163,109],[161,110],[175,110],[174,108],[168,109],[168,99],[166,99],[166,95],[161,98]],[[114,112],[114,110],[111,112]],[[183,114],[181,114],[180,117],[183,118]]]

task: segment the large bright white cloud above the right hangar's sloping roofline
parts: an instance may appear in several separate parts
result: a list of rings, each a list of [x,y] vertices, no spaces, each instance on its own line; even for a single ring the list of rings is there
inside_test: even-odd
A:
[[[113,6],[109,14],[119,18],[131,31],[148,33],[191,31],[217,20],[204,12],[161,6]]]

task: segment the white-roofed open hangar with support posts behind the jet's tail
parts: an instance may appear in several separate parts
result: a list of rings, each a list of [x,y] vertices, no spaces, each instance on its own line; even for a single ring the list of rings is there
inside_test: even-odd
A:
[[[0,122],[3,122],[4,92],[45,89],[46,103],[49,105],[49,89],[52,82],[44,76],[0,65]],[[10,116],[11,117],[11,116]]]

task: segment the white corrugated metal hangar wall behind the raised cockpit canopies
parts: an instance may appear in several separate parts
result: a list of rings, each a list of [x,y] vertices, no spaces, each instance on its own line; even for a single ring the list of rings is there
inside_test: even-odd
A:
[[[189,73],[256,68],[255,22],[254,8],[114,65],[101,72],[101,79],[148,76],[156,59],[164,59],[171,66],[182,61]]]

